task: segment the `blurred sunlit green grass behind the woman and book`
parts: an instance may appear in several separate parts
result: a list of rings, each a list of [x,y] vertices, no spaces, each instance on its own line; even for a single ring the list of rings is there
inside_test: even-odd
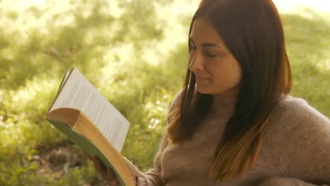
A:
[[[130,120],[123,155],[150,168],[183,85],[198,3],[0,1],[0,185],[102,185],[87,156],[45,120],[74,66]],[[330,14],[300,8],[281,16],[292,94],[329,117]]]

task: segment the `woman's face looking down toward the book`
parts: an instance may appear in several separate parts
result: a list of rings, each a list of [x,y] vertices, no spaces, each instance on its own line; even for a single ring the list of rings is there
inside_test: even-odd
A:
[[[197,18],[190,33],[190,44],[189,68],[196,76],[197,91],[236,96],[241,68],[213,25],[204,18]]]

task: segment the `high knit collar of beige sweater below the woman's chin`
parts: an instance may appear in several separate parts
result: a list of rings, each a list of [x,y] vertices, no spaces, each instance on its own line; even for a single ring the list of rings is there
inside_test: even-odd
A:
[[[228,97],[220,94],[213,95],[211,111],[214,113],[233,113],[237,97]]]

